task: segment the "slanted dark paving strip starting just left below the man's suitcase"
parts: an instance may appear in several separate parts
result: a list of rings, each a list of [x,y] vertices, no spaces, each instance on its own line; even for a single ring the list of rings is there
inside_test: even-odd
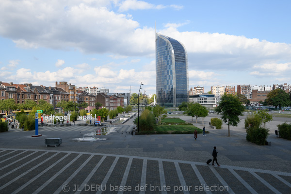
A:
[[[197,169],[199,170],[201,176],[203,177],[204,181],[206,182],[207,186],[211,187],[217,187],[217,186],[224,186],[221,184],[221,182],[218,180],[218,178],[215,177],[215,175],[212,173],[212,171],[209,169],[208,166],[201,166],[196,165]],[[206,187],[206,185],[202,185],[203,187]],[[223,191],[211,191],[212,194],[224,194],[226,192]]]

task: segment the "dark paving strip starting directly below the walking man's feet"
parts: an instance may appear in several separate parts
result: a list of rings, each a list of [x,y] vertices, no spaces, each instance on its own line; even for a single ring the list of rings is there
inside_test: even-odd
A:
[[[250,194],[249,190],[226,168],[215,167],[215,170],[226,181],[234,193]],[[220,184],[221,185],[221,184]],[[225,186],[225,185],[223,185]]]

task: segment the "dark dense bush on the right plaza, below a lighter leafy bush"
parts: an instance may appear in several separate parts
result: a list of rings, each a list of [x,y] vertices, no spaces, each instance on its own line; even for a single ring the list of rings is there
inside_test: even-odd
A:
[[[265,145],[269,129],[251,127],[246,130],[246,140],[257,145]]]

